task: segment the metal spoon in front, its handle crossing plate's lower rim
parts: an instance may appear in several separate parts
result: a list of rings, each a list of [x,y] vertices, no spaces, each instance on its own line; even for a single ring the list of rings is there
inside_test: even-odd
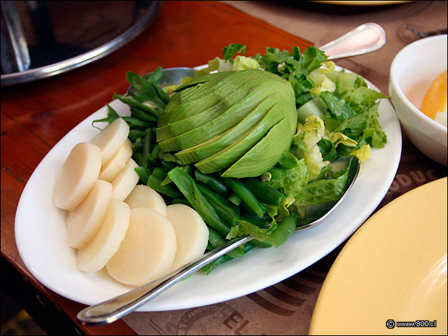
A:
[[[351,163],[349,164],[349,162]],[[311,226],[315,226],[323,222],[326,218],[328,218],[328,216],[330,216],[332,211],[335,210],[339,204],[341,204],[342,200],[344,200],[347,193],[351,189],[351,186],[353,186],[353,183],[358,176],[360,161],[356,158],[356,156],[349,155],[335,160],[335,162],[332,162],[331,167],[334,172],[338,172],[340,169],[349,167],[349,174],[347,177],[346,190],[344,194],[337,202],[328,202],[327,204],[322,204],[314,207],[314,209],[311,209],[310,214],[322,214],[323,216],[307,225],[297,227],[295,231],[311,228]],[[187,276],[193,274],[213,260],[216,260],[221,255],[232,251],[241,244],[251,241],[251,239],[253,238],[248,236],[232,239],[220,248],[216,248],[213,251],[204,254],[201,258],[190,262],[190,264],[179,269],[176,269],[167,276],[163,276],[160,279],[146,283],[145,285],[135,288],[130,292],[114,297],[111,300],[87,307],[80,311],[76,317],[83,325],[102,325],[116,321],[141,307],[154,297],[160,295],[160,293],[164,292],[175,283],[185,279]]]

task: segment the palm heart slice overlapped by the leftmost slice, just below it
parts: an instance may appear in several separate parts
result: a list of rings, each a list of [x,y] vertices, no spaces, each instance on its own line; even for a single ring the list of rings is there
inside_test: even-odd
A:
[[[92,240],[106,217],[112,197],[112,185],[97,180],[90,193],[66,219],[67,241],[73,248],[81,248]]]

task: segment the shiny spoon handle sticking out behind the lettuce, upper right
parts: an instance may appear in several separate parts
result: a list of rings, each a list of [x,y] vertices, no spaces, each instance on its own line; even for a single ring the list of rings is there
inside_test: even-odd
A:
[[[386,32],[373,22],[352,29],[335,40],[322,45],[328,59],[363,55],[381,48],[386,43]]]

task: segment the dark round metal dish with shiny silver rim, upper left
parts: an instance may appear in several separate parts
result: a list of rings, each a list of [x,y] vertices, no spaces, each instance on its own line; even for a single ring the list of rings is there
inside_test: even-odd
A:
[[[94,62],[155,18],[162,1],[1,1],[1,86]]]

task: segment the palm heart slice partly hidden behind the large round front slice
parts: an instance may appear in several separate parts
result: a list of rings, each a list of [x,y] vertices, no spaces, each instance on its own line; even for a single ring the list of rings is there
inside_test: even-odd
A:
[[[126,198],[125,203],[131,209],[134,208],[150,208],[157,211],[162,216],[167,216],[167,204],[160,194],[153,188],[139,184],[135,186],[130,195]]]

